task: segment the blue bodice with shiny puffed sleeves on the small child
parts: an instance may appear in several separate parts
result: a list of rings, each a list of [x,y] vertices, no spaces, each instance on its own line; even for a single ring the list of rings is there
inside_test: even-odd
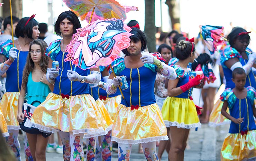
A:
[[[229,127],[229,133],[235,134],[240,133],[241,131],[256,129],[253,116],[253,108],[255,108],[253,104],[254,100],[256,99],[255,95],[255,89],[250,86],[247,87],[247,96],[244,99],[236,98],[231,88],[225,89],[225,91],[221,95],[221,100],[226,100],[228,102],[230,115],[235,117],[236,119],[244,117],[243,122],[240,124],[231,122]]]

